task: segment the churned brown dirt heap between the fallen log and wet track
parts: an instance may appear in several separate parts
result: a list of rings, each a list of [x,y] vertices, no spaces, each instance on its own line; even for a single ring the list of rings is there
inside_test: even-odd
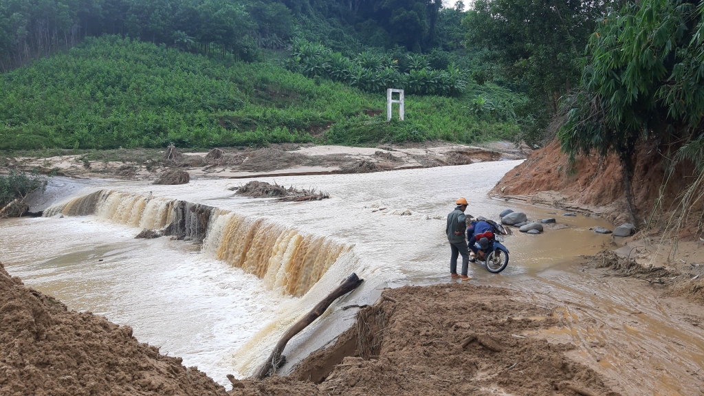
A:
[[[290,376],[243,380],[230,395],[618,395],[565,357],[572,345],[534,338],[558,318],[510,290],[402,287],[380,301]]]

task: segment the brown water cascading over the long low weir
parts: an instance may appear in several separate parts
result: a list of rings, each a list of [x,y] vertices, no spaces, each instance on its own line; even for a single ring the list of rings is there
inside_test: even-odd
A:
[[[351,246],[307,235],[265,218],[249,218],[201,204],[101,190],[56,204],[45,217],[97,216],[134,228],[161,230],[203,242],[203,251],[262,279],[270,290],[300,297]]]

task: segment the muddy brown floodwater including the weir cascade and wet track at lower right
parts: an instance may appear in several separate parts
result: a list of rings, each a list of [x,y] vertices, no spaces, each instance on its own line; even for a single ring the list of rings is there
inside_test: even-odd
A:
[[[284,372],[351,325],[353,310],[341,307],[373,303],[383,287],[449,282],[445,217],[463,196],[474,216],[498,220],[503,209],[514,209],[566,225],[509,235],[508,268],[494,275],[470,264],[472,282],[522,290],[546,315],[562,315],[562,326],[540,336],[577,345],[572,357],[605,373],[624,395],[698,394],[704,332],[672,318],[646,289],[576,264],[612,240],[589,228],[612,225],[486,197],[517,163],[258,179],[318,187],[331,196],[320,202],[242,198],[229,190],[248,180],[106,181],[47,211],[79,213],[82,201],[71,199],[100,191],[90,216],[1,221],[0,260],[70,309],[129,324],[140,341],[225,384],[227,373],[252,373],[286,328],[351,272],[363,286],[289,343]],[[175,200],[216,208],[207,229],[189,231],[205,236],[202,245],[134,239],[142,228],[169,223]]]

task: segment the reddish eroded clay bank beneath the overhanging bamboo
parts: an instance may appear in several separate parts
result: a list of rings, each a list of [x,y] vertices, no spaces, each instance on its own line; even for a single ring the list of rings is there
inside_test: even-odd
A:
[[[641,144],[634,155],[635,170],[632,180],[636,216],[648,218],[665,175],[662,148]],[[596,154],[580,156],[576,173],[567,172],[568,156],[560,151],[560,142],[553,140],[542,149],[506,173],[489,194],[493,196],[532,196],[539,192],[559,192],[562,201],[586,206],[605,206],[603,217],[613,223],[629,221],[622,179],[622,166],[615,156],[600,158]],[[672,209],[677,196],[691,181],[691,171],[681,166],[672,175],[665,191],[665,211]],[[691,169],[691,167],[689,168]],[[528,199],[530,201],[530,199]],[[537,202],[534,202],[537,203]],[[555,202],[559,204],[559,202]]]

